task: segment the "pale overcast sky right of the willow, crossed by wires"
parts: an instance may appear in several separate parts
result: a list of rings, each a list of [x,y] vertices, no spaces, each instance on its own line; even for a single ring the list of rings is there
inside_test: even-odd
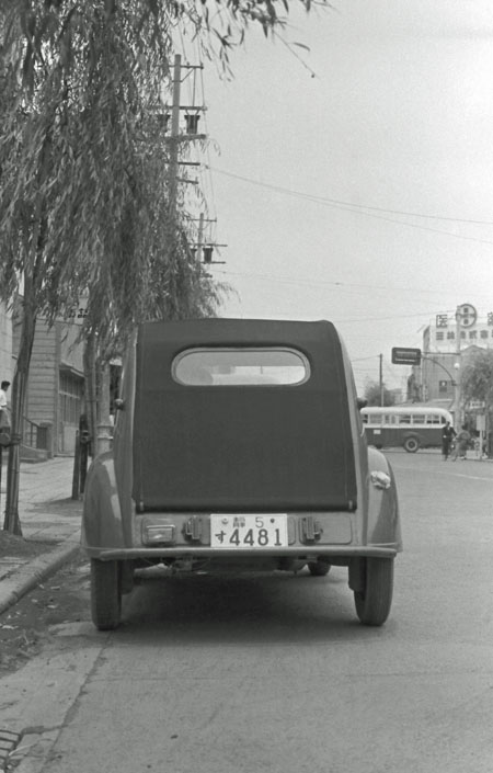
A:
[[[290,5],[284,42],[251,31],[233,78],[200,75],[220,315],[329,319],[360,393],[380,354],[399,387],[393,346],[493,310],[491,0]]]

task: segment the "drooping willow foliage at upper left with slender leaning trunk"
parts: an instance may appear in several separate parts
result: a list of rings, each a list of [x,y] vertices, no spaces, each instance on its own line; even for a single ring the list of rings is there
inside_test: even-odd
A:
[[[310,0],[300,0],[307,9]],[[93,357],[139,320],[214,312],[183,203],[170,218],[160,94],[186,26],[228,65],[287,0],[0,0],[0,297],[22,283],[4,527],[21,533],[19,443],[36,319],[88,297]],[[174,186],[172,186],[174,190]],[[157,282],[159,277],[159,282]],[[95,352],[95,353],[94,353]]]

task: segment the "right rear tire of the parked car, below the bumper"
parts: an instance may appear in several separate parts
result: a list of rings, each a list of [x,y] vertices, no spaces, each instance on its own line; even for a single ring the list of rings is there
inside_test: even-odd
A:
[[[356,613],[365,625],[382,625],[389,616],[393,591],[393,558],[365,558],[364,590],[355,591]]]

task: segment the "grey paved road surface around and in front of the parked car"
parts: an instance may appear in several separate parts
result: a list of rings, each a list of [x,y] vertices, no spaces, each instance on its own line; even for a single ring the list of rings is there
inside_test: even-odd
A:
[[[148,581],[121,630],[58,626],[0,682],[0,718],[42,725],[18,771],[491,773],[493,464],[388,455],[405,549],[386,626],[357,623],[337,567]]]

